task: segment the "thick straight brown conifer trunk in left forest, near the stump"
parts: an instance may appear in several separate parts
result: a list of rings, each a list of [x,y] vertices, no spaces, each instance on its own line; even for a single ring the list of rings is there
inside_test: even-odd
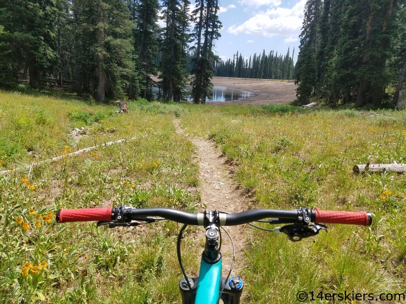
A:
[[[98,84],[96,91],[96,100],[104,101],[106,98],[106,73],[103,66],[104,58],[101,54],[104,45],[104,28],[103,28],[103,0],[97,1],[97,43],[98,43],[98,54],[97,54],[97,75],[98,75]]]

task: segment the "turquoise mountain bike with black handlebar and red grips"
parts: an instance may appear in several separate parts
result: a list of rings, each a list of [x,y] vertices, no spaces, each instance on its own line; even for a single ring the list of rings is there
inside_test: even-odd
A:
[[[268,218],[268,220],[263,220]],[[56,221],[97,221],[97,226],[138,226],[161,220],[173,220],[183,223],[178,236],[177,253],[184,278],[179,282],[182,304],[216,304],[220,299],[225,304],[239,304],[244,289],[240,276],[230,278],[235,260],[235,247],[229,233],[223,226],[250,224],[265,231],[284,233],[292,242],[301,241],[327,230],[322,223],[370,225],[372,215],[367,212],[323,211],[309,208],[297,210],[254,209],[239,213],[228,213],[218,210],[206,210],[204,213],[189,213],[171,208],[132,208],[118,206],[113,208],[94,209],[60,209],[56,213]],[[252,222],[270,224],[287,224],[275,229],[264,229]],[[206,228],[205,250],[201,255],[198,278],[186,275],[180,252],[181,239],[187,225],[202,225]],[[226,232],[234,247],[230,271],[226,278],[222,277],[221,231]]]

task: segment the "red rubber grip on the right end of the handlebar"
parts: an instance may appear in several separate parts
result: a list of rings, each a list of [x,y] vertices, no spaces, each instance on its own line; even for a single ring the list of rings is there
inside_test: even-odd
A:
[[[317,223],[330,223],[330,224],[353,224],[353,225],[370,225],[370,219],[366,212],[351,212],[351,211],[316,211]]]

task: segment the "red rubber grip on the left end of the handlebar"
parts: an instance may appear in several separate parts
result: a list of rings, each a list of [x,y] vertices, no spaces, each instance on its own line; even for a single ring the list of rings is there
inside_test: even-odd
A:
[[[57,212],[57,220],[60,223],[74,221],[111,221],[112,206],[108,208],[92,208],[92,209],[60,209]]]

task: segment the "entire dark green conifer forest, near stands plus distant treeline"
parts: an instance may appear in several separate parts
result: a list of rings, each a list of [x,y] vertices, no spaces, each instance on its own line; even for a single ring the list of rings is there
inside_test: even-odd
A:
[[[290,48],[221,60],[218,0],[3,0],[0,87],[97,101],[152,100],[158,87],[163,101],[185,101],[190,85],[205,103],[214,76],[281,79],[297,84],[297,105],[391,107],[404,87],[405,3],[308,0],[294,62]]]

